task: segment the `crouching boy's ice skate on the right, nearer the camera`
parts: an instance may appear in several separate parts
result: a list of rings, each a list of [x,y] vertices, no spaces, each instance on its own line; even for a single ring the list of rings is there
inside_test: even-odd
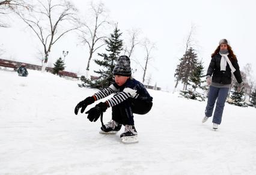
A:
[[[120,135],[120,138],[123,143],[136,143],[139,141],[135,126],[132,125],[125,126],[124,132]]]

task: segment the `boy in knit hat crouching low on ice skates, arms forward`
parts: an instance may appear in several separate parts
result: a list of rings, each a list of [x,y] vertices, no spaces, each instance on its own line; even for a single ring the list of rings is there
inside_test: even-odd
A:
[[[89,96],[84,101],[79,102],[75,107],[75,114],[78,114],[79,108],[81,108],[81,113],[83,113],[87,105],[117,92],[111,99],[100,102],[96,107],[87,111],[87,118],[91,122],[96,122],[100,114],[105,112],[107,108],[112,107],[112,120],[100,128],[100,133],[116,134],[121,129],[121,126],[124,125],[125,129],[120,137],[122,139],[136,138],[138,134],[134,126],[133,113],[148,113],[153,105],[153,98],[141,82],[130,77],[132,73],[128,56],[120,56],[118,58],[113,74],[115,76],[115,83],[109,86],[109,88],[100,90],[93,96]]]

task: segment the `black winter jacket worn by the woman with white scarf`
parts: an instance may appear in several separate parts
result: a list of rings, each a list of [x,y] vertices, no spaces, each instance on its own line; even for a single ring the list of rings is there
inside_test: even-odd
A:
[[[237,60],[230,61],[233,67],[236,69],[236,71],[234,71],[234,76],[236,77],[237,82],[242,83],[242,77]],[[224,85],[231,84],[230,65],[227,64],[226,71],[221,71],[221,55],[219,55],[219,53],[218,55],[212,57],[206,76],[212,76],[212,82],[215,83],[220,83]]]

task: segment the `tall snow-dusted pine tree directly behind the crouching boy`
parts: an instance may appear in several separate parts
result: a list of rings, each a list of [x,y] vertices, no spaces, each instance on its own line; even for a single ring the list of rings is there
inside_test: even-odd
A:
[[[113,70],[115,65],[117,64],[118,56],[120,55],[121,50],[123,50],[123,40],[120,39],[122,33],[120,33],[120,29],[115,25],[114,33],[111,34],[111,37],[105,40],[107,44],[106,51],[108,53],[98,53],[99,56],[102,56],[102,59],[96,59],[97,65],[103,67],[99,71],[94,71],[99,74],[99,79],[95,81],[88,82],[91,88],[107,88],[112,83],[114,83],[113,78]]]

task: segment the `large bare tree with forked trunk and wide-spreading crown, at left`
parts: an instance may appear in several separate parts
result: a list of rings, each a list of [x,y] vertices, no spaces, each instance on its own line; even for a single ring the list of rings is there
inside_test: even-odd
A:
[[[59,3],[52,0],[37,0],[31,11],[27,13],[17,12],[19,17],[32,29],[40,40],[44,50],[44,64],[42,72],[46,68],[53,44],[70,31],[78,29],[76,8],[66,0]],[[55,2],[56,4],[53,4]]]

